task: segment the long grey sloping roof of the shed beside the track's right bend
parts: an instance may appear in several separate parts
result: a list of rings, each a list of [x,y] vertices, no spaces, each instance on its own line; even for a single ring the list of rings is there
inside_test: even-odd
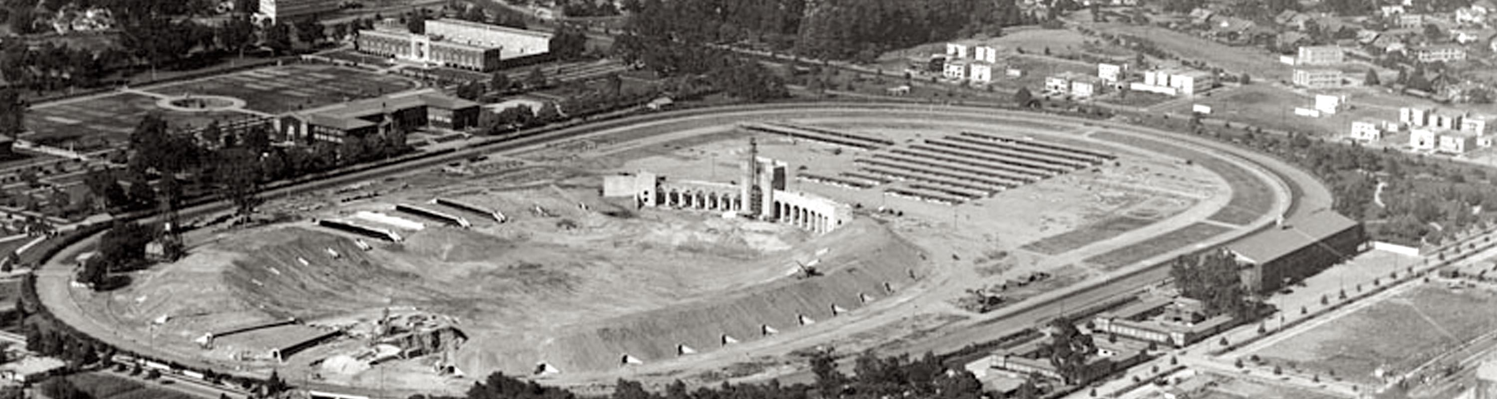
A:
[[[1355,226],[1355,220],[1331,209],[1322,209],[1286,220],[1283,229],[1262,230],[1228,245],[1228,248],[1250,262],[1268,263],[1299,248],[1319,245],[1320,241]]]

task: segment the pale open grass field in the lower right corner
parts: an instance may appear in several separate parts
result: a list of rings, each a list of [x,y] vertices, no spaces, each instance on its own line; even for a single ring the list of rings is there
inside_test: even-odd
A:
[[[1383,368],[1403,374],[1497,330],[1497,293],[1425,284],[1290,336],[1256,354],[1359,383]]]

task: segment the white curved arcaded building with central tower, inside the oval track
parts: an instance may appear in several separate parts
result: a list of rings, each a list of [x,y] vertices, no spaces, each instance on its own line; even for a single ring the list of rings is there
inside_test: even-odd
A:
[[[826,233],[852,220],[852,206],[820,196],[786,190],[790,167],[759,157],[748,142],[748,154],[737,182],[671,181],[651,172],[603,178],[605,197],[633,197],[638,206],[666,206],[737,212],[741,217],[780,221]]]

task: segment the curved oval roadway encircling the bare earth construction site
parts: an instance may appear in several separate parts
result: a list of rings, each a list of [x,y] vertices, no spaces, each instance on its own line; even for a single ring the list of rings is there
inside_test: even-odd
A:
[[[1302,172],[1299,169],[1295,169],[1295,167],[1292,167],[1289,164],[1284,164],[1283,161],[1278,161],[1278,160],[1275,160],[1272,157],[1268,157],[1268,155],[1263,155],[1263,154],[1257,154],[1257,152],[1251,152],[1251,151],[1247,151],[1247,149],[1243,149],[1243,148],[1235,148],[1232,145],[1216,142],[1216,140],[1205,139],[1205,137],[1196,137],[1196,136],[1189,136],[1189,134],[1178,134],[1178,133],[1171,133],[1171,132],[1160,132],[1160,130],[1153,130],[1153,129],[1142,129],[1142,127],[1126,126],[1126,124],[1114,124],[1114,123],[1105,123],[1105,121],[1070,118],[1070,117],[1040,115],[1040,114],[997,111],[997,109],[981,109],[981,108],[930,106],[930,105],[904,105],[904,103],[772,103],[772,105],[725,106],[725,108],[710,108],[710,109],[687,109],[687,111],[675,111],[675,112],[639,115],[639,117],[621,118],[621,120],[614,120],[614,121],[603,121],[603,123],[575,126],[575,127],[567,127],[567,129],[560,129],[560,130],[551,130],[551,132],[545,132],[545,133],[540,133],[540,134],[528,136],[528,137],[524,137],[524,139],[515,139],[515,140],[490,140],[490,142],[484,142],[484,143],[475,145],[475,146],[472,146],[469,149],[463,149],[463,151],[457,151],[457,152],[451,152],[451,154],[443,154],[443,155],[437,155],[437,157],[427,157],[427,158],[413,160],[413,161],[407,161],[407,163],[391,164],[391,166],[383,166],[383,167],[374,167],[374,169],[370,169],[370,170],[347,173],[347,175],[341,175],[341,176],[332,176],[332,178],[326,178],[326,179],[320,179],[320,181],[304,182],[304,184],[281,187],[281,188],[275,188],[275,190],[268,190],[263,196],[265,197],[290,196],[290,194],[296,194],[296,193],[304,193],[304,191],[311,191],[311,190],[320,190],[320,188],[335,187],[335,185],[341,185],[341,184],[349,184],[349,182],[355,182],[355,181],[377,179],[377,178],[383,178],[383,176],[392,176],[392,175],[400,175],[400,173],[404,173],[404,172],[410,172],[412,169],[416,169],[416,167],[436,166],[436,164],[442,164],[442,163],[452,161],[452,160],[461,160],[461,158],[467,158],[467,157],[478,155],[478,154],[490,154],[490,152],[496,152],[496,151],[499,151],[499,152],[528,151],[528,149],[539,148],[539,146],[542,146],[546,142],[554,142],[554,140],[561,140],[561,139],[576,139],[576,137],[585,137],[585,136],[612,134],[612,133],[620,133],[620,132],[626,132],[626,130],[638,130],[638,129],[642,129],[642,127],[654,127],[656,130],[654,130],[653,134],[660,134],[660,133],[669,133],[669,132],[678,130],[678,129],[674,129],[674,127],[683,126],[683,124],[684,126],[710,126],[710,124],[728,124],[728,123],[735,123],[735,121],[743,121],[743,120],[750,120],[750,118],[763,120],[763,118],[823,117],[828,112],[838,112],[838,111],[840,112],[865,112],[865,114],[871,111],[871,112],[874,112],[877,115],[883,115],[885,118],[888,118],[889,115],[898,115],[898,117],[904,117],[904,118],[937,118],[937,120],[940,120],[940,118],[966,118],[966,120],[981,120],[981,121],[988,121],[988,123],[996,123],[996,124],[1001,124],[1003,121],[1040,121],[1040,123],[1045,123],[1045,124],[1058,124],[1058,126],[1075,126],[1075,127],[1088,127],[1088,129],[1109,129],[1109,132],[1130,132],[1133,134],[1145,134],[1145,136],[1151,136],[1151,137],[1163,137],[1163,139],[1169,140],[1169,143],[1184,145],[1184,146],[1195,146],[1195,148],[1199,148],[1199,149],[1207,149],[1207,151],[1210,151],[1213,154],[1217,154],[1217,155],[1231,154],[1231,155],[1226,155],[1226,157],[1232,158],[1235,161],[1235,164],[1238,164],[1241,167],[1247,167],[1247,169],[1254,170],[1254,175],[1259,175],[1260,178],[1266,178],[1266,179],[1275,181],[1272,184],[1272,187],[1277,188],[1277,190],[1274,190],[1275,193],[1265,193],[1265,194],[1272,194],[1275,197],[1275,202],[1274,202],[1275,203],[1275,208],[1274,208],[1275,211],[1274,212],[1268,212],[1265,215],[1260,215],[1259,220],[1253,223],[1254,229],[1260,229],[1260,227],[1266,226],[1268,223],[1271,223],[1274,220],[1274,217],[1277,217],[1278,212],[1290,212],[1290,214],[1310,212],[1310,211],[1314,211],[1314,209],[1326,208],[1331,203],[1331,194],[1329,194],[1329,191],[1322,184],[1319,184],[1317,181],[1314,181],[1314,178],[1311,178],[1308,173],[1305,173],[1305,172]],[[671,129],[666,129],[666,127],[671,127]],[[208,212],[219,212],[219,211],[225,211],[228,208],[229,208],[228,203],[214,202],[214,203],[207,203],[207,205],[199,205],[199,206],[193,206],[193,208],[184,209],[181,214],[183,214],[184,218],[190,218],[193,215],[201,215],[201,214],[208,214]],[[1064,308],[1075,309],[1075,308],[1084,306],[1085,303],[1096,303],[1096,302],[1106,300],[1109,297],[1115,297],[1118,294],[1126,294],[1126,293],[1135,291],[1135,290],[1138,290],[1141,287],[1147,287],[1147,285],[1159,282],[1159,281],[1162,281],[1165,278],[1166,267],[1157,267],[1157,265],[1153,265],[1153,263],[1156,263],[1159,260],[1168,260],[1168,259],[1175,257],[1175,256],[1178,256],[1181,253],[1195,251],[1195,250],[1198,250],[1201,247],[1220,245],[1220,244],[1228,242],[1231,239],[1237,239],[1237,238],[1240,238],[1244,233],[1248,233],[1248,232],[1241,232],[1240,230],[1237,233],[1223,235],[1223,236],[1219,236],[1219,238],[1216,238],[1216,239],[1213,239],[1211,242],[1207,242],[1207,244],[1201,244],[1201,245],[1195,245],[1195,247],[1187,247],[1187,248],[1180,248],[1180,250],[1172,251],[1169,254],[1165,254],[1165,256],[1160,256],[1160,257],[1156,257],[1156,259],[1151,259],[1151,260],[1141,262],[1141,265],[1130,266],[1127,270],[1121,270],[1118,273],[1112,273],[1112,275],[1106,275],[1106,276],[1102,276],[1102,278],[1096,278],[1096,279],[1087,281],[1084,284],[1076,284],[1076,285],[1067,287],[1066,290],[1058,290],[1058,291],[1054,291],[1054,293],[1046,294],[1046,296],[1040,296],[1040,297],[1034,297],[1034,299],[1021,302],[1016,306],[1010,306],[1010,308],[1001,309],[998,312],[984,315],[981,320],[973,321],[969,326],[964,326],[963,329],[960,329],[957,332],[951,332],[951,333],[945,333],[945,335],[939,335],[939,336],[930,336],[930,338],[925,338],[922,341],[918,341],[918,342],[913,342],[910,345],[906,345],[904,348],[901,348],[901,351],[907,351],[907,353],[937,351],[937,353],[942,353],[942,351],[955,350],[955,348],[960,348],[960,347],[972,344],[972,342],[981,342],[981,341],[993,339],[993,338],[996,338],[996,336],[998,336],[998,335],[1001,335],[1004,332],[1012,332],[1012,330],[1016,330],[1016,329],[1022,329],[1022,327],[1031,326],[1036,321],[1040,321],[1043,318],[1054,317],[1055,314],[1060,314]],[[96,242],[96,241],[97,241],[97,236],[88,238],[88,239],[79,241],[75,245],[70,245],[70,247],[64,248],[63,251],[58,251],[57,256],[54,256],[52,259],[48,259],[46,263],[37,270],[37,282],[36,282],[37,287],[36,288],[37,288],[37,293],[40,296],[40,300],[42,300],[42,303],[45,306],[48,306],[48,309],[58,320],[61,320],[63,323],[67,323],[67,324],[73,326],[75,329],[78,329],[78,330],[81,330],[84,333],[88,333],[88,335],[91,335],[94,338],[99,338],[99,339],[102,339],[105,342],[109,342],[111,345],[120,347],[120,348],[127,350],[127,351],[135,351],[135,353],[141,353],[141,354],[153,356],[153,357],[172,359],[172,360],[177,360],[178,363],[183,363],[183,365],[187,365],[187,366],[195,366],[195,368],[205,368],[207,366],[207,368],[213,368],[213,369],[217,369],[217,371],[232,369],[228,365],[210,365],[210,363],[205,363],[201,359],[198,359],[196,356],[193,356],[192,353],[163,351],[163,350],[160,350],[157,347],[153,347],[153,345],[150,345],[147,342],[139,342],[139,341],[135,341],[132,338],[115,335],[115,329],[112,326],[109,326],[106,323],[100,323],[100,321],[88,317],[84,312],[84,309],[79,306],[79,303],[76,300],[73,300],[73,297],[72,297],[73,296],[73,288],[69,285],[69,282],[72,279],[72,259],[76,254],[79,254],[81,251],[84,251],[85,248],[88,248],[90,245],[93,245],[93,242]],[[895,308],[897,305],[898,303],[895,300],[880,300],[876,306],[870,306],[870,308],[874,308],[873,312],[880,312],[882,311],[882,314],[888,315],[888,318],[879,318],[879,320],[883,320],[883,321],[898,321],[898,315],[895,312],[889,312],[888,311],[889,308]],[[877,306],[883,306],[885,309],[877,309]],[[862,324],[868,324],[870,321],[877,321],[877,320],[873,320],[873,318],[859,318],[859,320],[864,320]],[[856,321],[852,321],[852,323],[856,323]],[[852,323],[847,323],[847,324],[852,324]],[[832,323],[828,323],[828,324],[832,324]],[[832,326],[837,326],[837,324],[832,324]],[[650,368],[641,368],[638,372],[639,374],[666,372],[666,371],[669,371],[671,366],[677,366],[677,368],[678,366],[690,366],[690,369],[698,369],[698,371],[717,369],[717,368],[725,368],[725,366],[729,366],[729,365],[732,365],[735,362],[743,360],[744,356],[750,354],[748,353],[750,350],[754,351],[754,353],[751,353],[753,356],[766,356],[766,354],[781,354],[783,356],[783,354],[786,354],[786,353],[789,353],[789,351],[792,351],[795,348],[802,348],[802,347],[807,347],[807,345],[813,345],[813,344],[816,344],[819,341],[825,341],[825,339],[837,336],[837,335],[849,335],[850,332],[846,327],[873,327],[873,326],[841,326],[841,327],[843,329],[835,329],[835,330],[834,329],[826,329],[826,327],[801,329],[801,330],[796,330],[793,333],[786,333],[783,336],[777,336],[775,339],[751,341],[756,345],[743,345],[743,348],[717,350],[717,351],[704,353],[699,359],[693,359],[689,365],[687,363],[677,363],[677,362],[660,362],[660,363],[648,365]],[[744,344],[750,344],[750,342],[744,342]],[[795,372],[796,371],[783,371],[783,372],[775,374],[775,375],[790,375],[790,377],[795,377]],[[639,374],[636,374],[636,375],[639,375]],[[260,377],[263,377],[263,375],[260,375]],[[558,381],[558,383],[581,384],[581,383],[611,381],[611,380],[606,380],[605,375],[597,375],[596,380],[594,378],[582,378],[584,375],[578,375],[578,377],[579,378],[576,378],[576,380],[567,378],[567,381]],[[771,377],[771,375],[762,375],[762,377]]]

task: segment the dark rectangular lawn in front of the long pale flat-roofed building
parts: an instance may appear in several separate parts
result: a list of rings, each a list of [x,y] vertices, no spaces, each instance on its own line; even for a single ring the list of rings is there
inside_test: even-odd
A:
[[[295,64],[151,87],[147,91],[168,96],[228,96],[244,100],[247,109],[281,114],[415,87],[415,82],[394,75],[337,66]]]

